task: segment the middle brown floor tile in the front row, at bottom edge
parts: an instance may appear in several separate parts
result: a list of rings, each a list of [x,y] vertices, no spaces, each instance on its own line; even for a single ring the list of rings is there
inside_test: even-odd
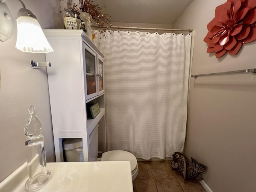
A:
[[[158,192],[184,192],[176,178],[155,179]]]

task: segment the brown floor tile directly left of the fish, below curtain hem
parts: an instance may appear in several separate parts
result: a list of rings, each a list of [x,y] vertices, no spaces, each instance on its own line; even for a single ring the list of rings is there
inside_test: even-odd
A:
[[[170,162],[171,161],[150,161],[149,164],[154,179],[176,178],[170,167]]]

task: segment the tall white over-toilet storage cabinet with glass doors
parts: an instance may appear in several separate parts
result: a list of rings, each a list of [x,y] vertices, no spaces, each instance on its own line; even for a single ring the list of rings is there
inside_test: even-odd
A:
[[[82,30],[44,30],[54,52],[46,54],[56,162],[62,162],[62,141],[82,138],[84,161],[90,158],[90,134],[102,120],[105,143],[104,56]],[[100,113],[90,118],[88,102]],[[103,146],[104,150],[105,145]]]

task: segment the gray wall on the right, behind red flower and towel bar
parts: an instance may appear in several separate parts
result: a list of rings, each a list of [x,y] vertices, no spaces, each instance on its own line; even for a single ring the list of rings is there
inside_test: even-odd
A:
[[[206,25],[226,0],[193,0],[174,28],[196,30],[192,74],[256,68],[256,41],[236,56],[206,53]],[[256,75],[191,79],[185,154],[208,166],[203,174],[214,192],[254,192],[256,188]]]

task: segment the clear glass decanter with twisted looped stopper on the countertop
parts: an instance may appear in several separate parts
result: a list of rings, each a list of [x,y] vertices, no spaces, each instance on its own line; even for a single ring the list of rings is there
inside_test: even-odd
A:
[[[46,152],[42,121],[35,114],[35,107],[28,107],[30,118],[24,128],[26,135],[25,150],[28,166],[28,180],[25,184],[27,192],[34,192],[45,186],[51,179],[51,172],[46,168]]]

